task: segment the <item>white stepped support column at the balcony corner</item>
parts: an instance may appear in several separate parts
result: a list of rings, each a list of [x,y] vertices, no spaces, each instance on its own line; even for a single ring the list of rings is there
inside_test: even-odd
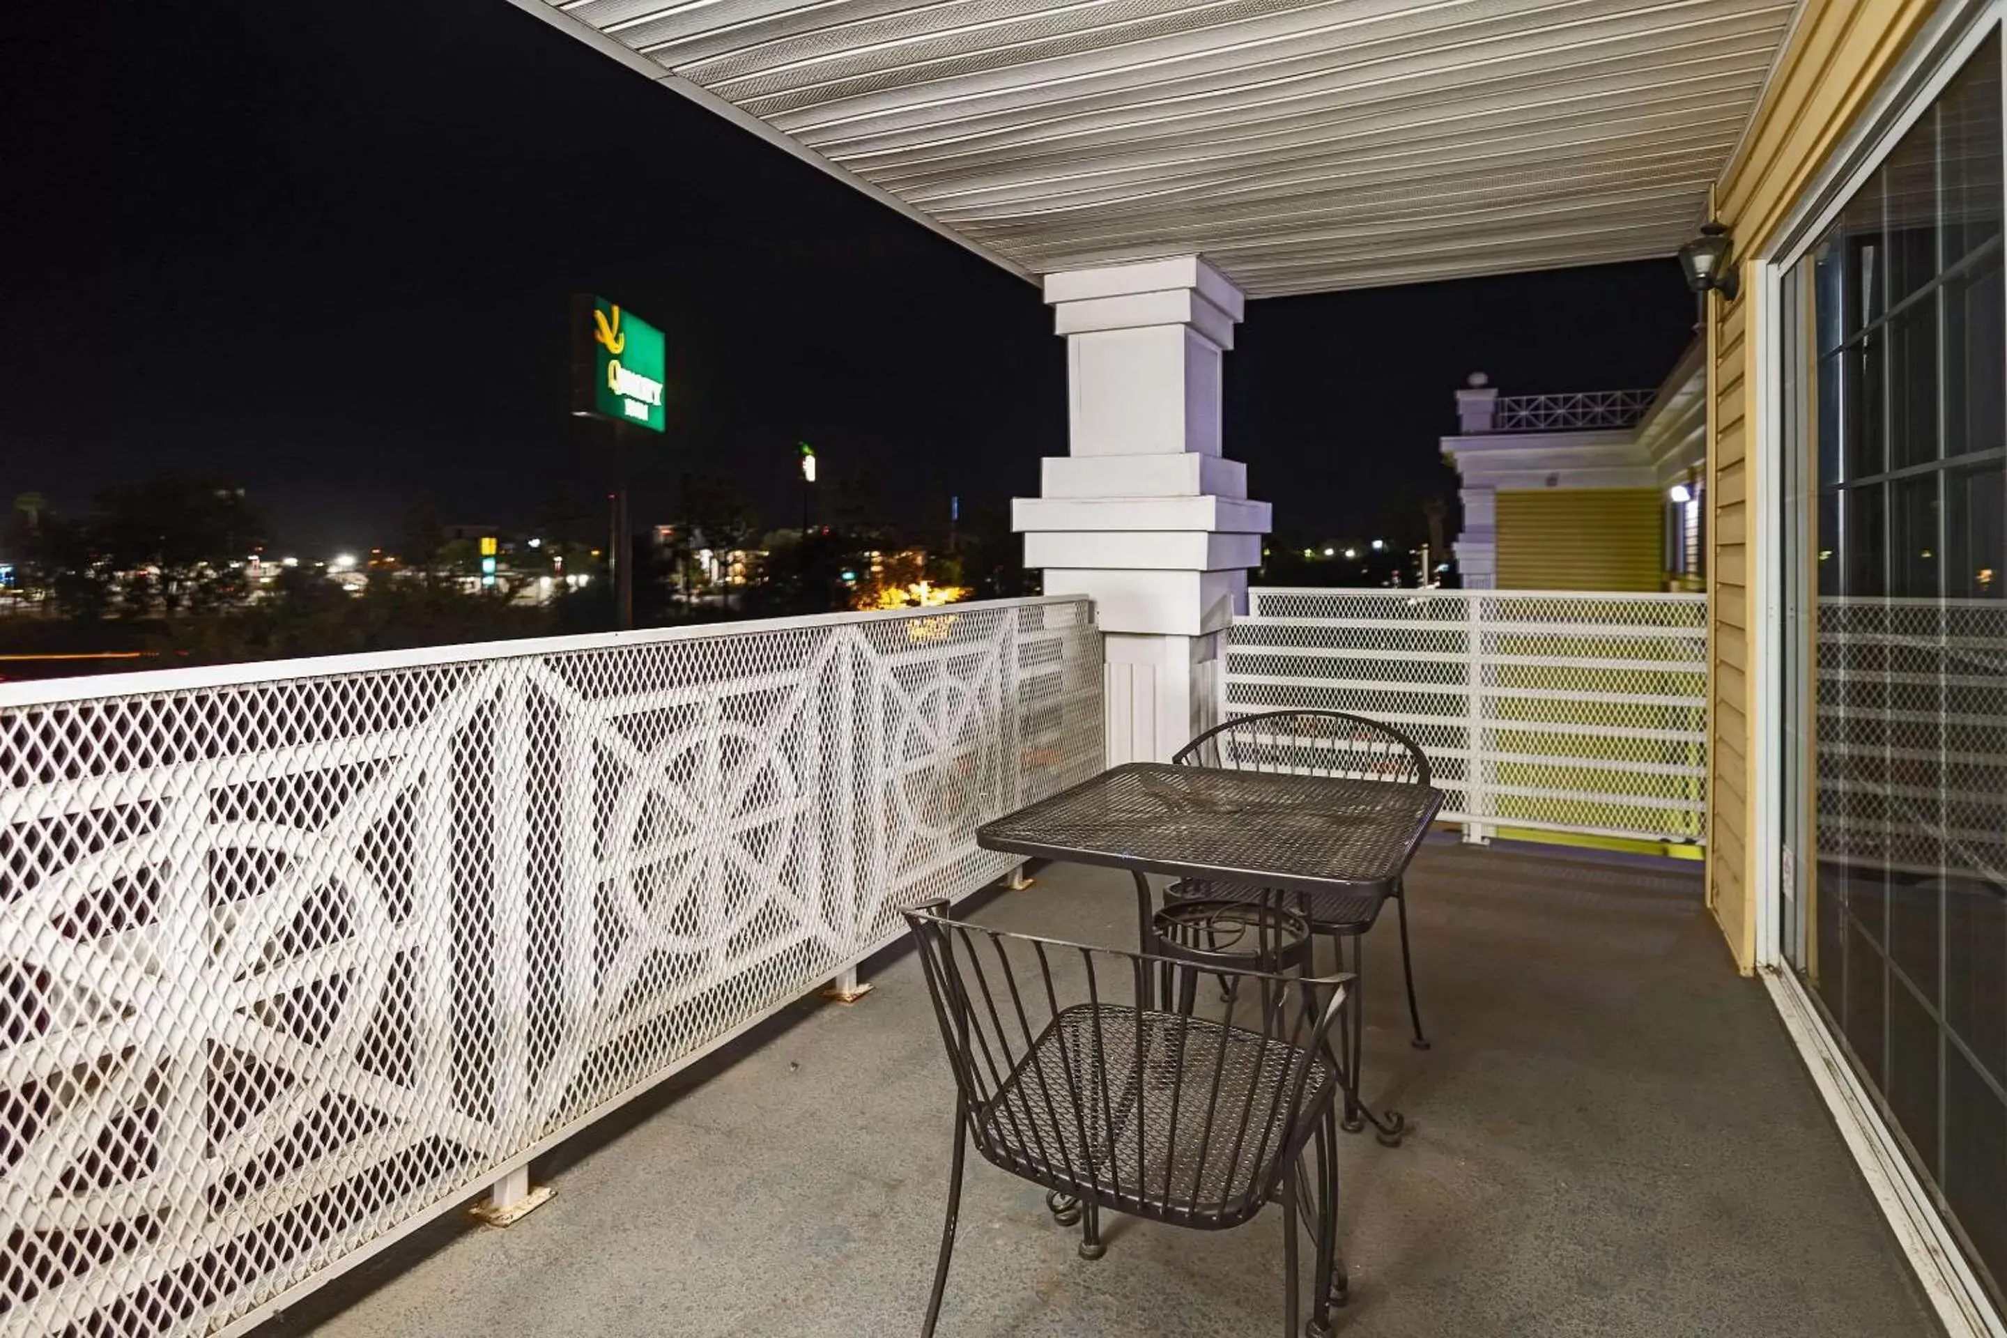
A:
[[[1108,760],[1168,760],[1214,722],[1268,504],[1220,455],[1220,361],[1244,301],[1198,257],[1046,275],[1072,453],[1014,504],[1046,594],[1086,594],[1108,646]]]

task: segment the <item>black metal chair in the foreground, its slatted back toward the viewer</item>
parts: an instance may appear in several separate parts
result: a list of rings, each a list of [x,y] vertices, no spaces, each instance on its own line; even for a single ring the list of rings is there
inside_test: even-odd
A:
[[[947,1288],[967,1143],[993,1165],[1078,1202],[1080,1254],[1104,1254],[1100,1212],[1224,1230],[1282,1206],[1284,1338],[1297,1338],[1299,1198],[1315,1198],[1317,1250],[1309,1338],[1331,1332],[1343,1300],[1337,1254],[1337,1093],[1329,1049],[1349,979],[1234,971],[1206,959],[1152,957],[1012,935],[905,913],[955,1075],[955,1149],[947,1222],[927,1298],[931,1338]],[[1152,1007],[1182,975],[1226,971],[1220,1017]],[[1315,1172],[1299,1167],[1315,1143]],[[1305,1184],[1299,1184],[1305,1182]],[[1307,1210],[1311,1206],[1305,1206]],[[1070,1212],[1070,1210],[1068,1210]]]

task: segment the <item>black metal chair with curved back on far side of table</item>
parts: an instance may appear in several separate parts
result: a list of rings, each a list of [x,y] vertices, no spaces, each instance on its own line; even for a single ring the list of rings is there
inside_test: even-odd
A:
[[[1222,770],[1297,772],[1307,776],[1337,776],[1349,780],[1393,780],[1429,784],[1429,758],[1407,734],[1379,720],[1351,716],[1341,710],[1270,710],[1216,724],[1170,758],[1182,766],[1214,766]],[[1164,901],[1264,901],[1295,905],[1311,921],[1311,931],[1335,941],[1339,965],[1357,977],[1357,1001],[1347,1017],[1345,1069],[1353,1079],[1347,1091],[1345,1127],[1359,1131],[1371,1117],[1357,1101],[1359,1067],[1365,1051],[1365,935],[1379,923],[1379,913],[1393,901],[1401,917],[1401,973],[1407,979],[1407,1015],[1415,1027],[1415,1049],[1429,1049],[1421,1029],[1421,1005],[1415,999],[1415,959],[1407,937],[1407,889],[1401,879],[1391,885],[1359,887],[1345,893],[1311,897],[1284,895],[1272,889],[1234,883],[1178,881],[1164,889]],[[1345,943],[1351,941],[1347,963]],[[1381,1141],[1399,1141],[1403,1121],[1375,1119]]]

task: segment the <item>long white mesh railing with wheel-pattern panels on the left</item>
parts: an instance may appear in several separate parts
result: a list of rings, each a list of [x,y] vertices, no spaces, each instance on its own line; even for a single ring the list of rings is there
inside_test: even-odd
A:
[[[1010,867],[1084,600],[0,688],[0,1332],[241,1332]]]

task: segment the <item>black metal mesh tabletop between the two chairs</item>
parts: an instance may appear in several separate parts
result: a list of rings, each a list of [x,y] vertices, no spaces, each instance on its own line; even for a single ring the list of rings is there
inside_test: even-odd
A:
[[[975,832],[1078,865],[1315,893],[1401,877],[1443,796],[1423,784],[1130,762]]]

